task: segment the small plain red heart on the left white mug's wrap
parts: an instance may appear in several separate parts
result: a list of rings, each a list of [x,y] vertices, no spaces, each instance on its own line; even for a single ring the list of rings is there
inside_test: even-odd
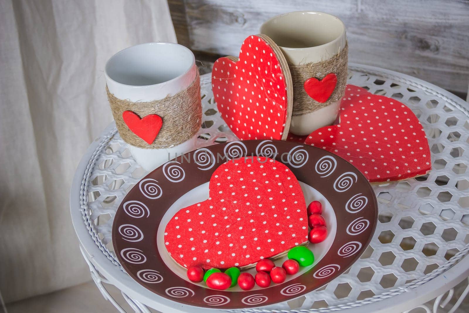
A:
[[[129,130],[149,145],[158,136],[159,130],[163,125],[163,119],[156,114],[150,114],[141,119],[132,111],[124,111],[122,112],[122,119],[127,127],[129,127]]]

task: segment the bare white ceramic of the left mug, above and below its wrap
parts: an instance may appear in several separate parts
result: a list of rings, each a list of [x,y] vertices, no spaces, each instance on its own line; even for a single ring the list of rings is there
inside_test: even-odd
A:
[[[197,71],[194,54],[185,46],[151,42],[114,54],[106,63],[105,75],[107,88],[116,98],[150,102],[186,89]],[[128,147],[137,163],[151,171],[177,155],[194,150],[196,143],[197,135],[170,148],[143,149],[130,144]]]

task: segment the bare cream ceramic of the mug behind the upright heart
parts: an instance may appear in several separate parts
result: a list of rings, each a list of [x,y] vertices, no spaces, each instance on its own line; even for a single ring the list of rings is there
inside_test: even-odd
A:
[[[322,12],[298,11],[277,15],[261,25],[291,64],[300,65],[330,59],[345,47],[345,25],[339,18]],[[292,116],[290,131],[309,135],[332,125],[339,113],[340,100],[314,112]]]

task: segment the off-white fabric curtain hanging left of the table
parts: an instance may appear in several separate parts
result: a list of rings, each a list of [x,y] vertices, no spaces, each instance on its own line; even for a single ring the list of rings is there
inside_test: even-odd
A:
[[[112,121],[103,69],[176,42],[166,0],[0,0],[0,291],[6,302],[90,279],[69,190]]]

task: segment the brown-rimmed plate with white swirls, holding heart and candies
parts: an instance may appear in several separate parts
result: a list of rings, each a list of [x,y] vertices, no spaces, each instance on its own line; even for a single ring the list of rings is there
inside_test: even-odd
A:
[[[182,207],[208,198],[208,182],[228,159],[267,156],[284,163],[300,182],[306,203],[320,200],[329,231],[311,267],[287,276],[281,284],[212,290],[190,282],[185,269],[164,246],[164,230]],[[225,158],[226,157],[226,158]],[[113,245],[125,271],[161,297],[207,308],[271,305],[315,290],[348,269],[369,244],[378,206],[367,179],[346,160],[325,150],[287,141],[248,140],[212,145],[186,153],[145,176],[121,202],[113,222]],[[276,260],[281,266],[283,259]],[[251,269],[250,271],[255,271]]]

